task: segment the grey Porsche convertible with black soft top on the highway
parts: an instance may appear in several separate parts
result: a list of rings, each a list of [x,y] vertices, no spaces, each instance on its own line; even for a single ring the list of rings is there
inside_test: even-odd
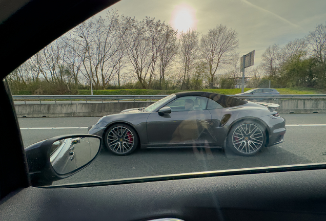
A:
[[[268,103],[208,92],[171,94],[148,107],[107,115],[88,128],[117,155],[140,148],[230,148],[252,156],[283,142],[285,120]]]

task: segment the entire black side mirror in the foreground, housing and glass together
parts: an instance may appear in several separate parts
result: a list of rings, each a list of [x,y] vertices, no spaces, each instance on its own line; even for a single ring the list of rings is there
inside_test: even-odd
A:
[[[32,186],[51,185],[84,169],[96,159],[101,144],[95,135],[65,135],[26,147]]]

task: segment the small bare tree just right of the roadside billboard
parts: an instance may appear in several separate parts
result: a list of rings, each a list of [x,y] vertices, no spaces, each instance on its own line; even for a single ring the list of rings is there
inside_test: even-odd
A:
[[[261,55],[261,63],[265,73],[271,76],[276,75],[280,48],[277,44],[269,46]]]

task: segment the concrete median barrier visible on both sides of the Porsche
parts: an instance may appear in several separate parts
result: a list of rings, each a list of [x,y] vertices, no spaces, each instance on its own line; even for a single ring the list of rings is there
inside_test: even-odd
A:
[[[280,114],[326,113],[326,99],[278,99],[254,102],[277,103]],[[15,104],[17,117],[100,117],[124,109],[145,107],[153,102]]]

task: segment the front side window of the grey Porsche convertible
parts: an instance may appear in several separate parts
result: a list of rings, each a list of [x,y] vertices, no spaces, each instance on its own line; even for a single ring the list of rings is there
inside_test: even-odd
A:
[[[172,112],[201,111],[206,108],[207,98],[198,96],[180,97],[171,101],[166,106],[171,107]]]

